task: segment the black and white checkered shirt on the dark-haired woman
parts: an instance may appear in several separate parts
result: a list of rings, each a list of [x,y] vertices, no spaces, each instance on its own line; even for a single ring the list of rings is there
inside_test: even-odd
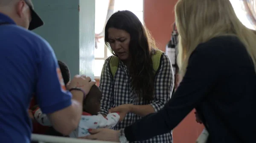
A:
[[[165,103],[171,98],[172,90],[174,88],[174,74],[172,70],[172,63],[166,53],[163,53],[161,56],[160,65],[154,83],[154,99],[151,102],[139,102],[136,93],[131,88],[130,76],[128,74],[127,67],[121,60],[119,60],[119,66],[115,77],[113,78],[109,65],[110,59],[111,57],[108,57],[108,59],[105,60],[99,83],[99,88],[102,91],[101,114],[108,114],[108,110],[113,105],[119,106],[122,104],[150,104],[154,108],[155,112],[157,112],[162,109]],[[118,123],[114,129],[118,130],[125,128],[140,118],[142,117],[134,113],[128,113],[124,120],[121,123]],[[172,143],[172,132],[135,143]]]

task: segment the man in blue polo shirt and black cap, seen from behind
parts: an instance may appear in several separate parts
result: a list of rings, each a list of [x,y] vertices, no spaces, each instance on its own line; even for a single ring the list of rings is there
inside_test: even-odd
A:
[[[29,103],[35,93],[53,127],[69,134],[78,126],[84,96],[95,82],[75,76],[66,90],[46,40],[28,31],[43,22],[30,0],[0,0],[0,140],[30,143]]]

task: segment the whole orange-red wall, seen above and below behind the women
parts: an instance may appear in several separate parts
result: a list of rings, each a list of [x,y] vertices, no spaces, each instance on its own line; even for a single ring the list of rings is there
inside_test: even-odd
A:
[[[158,49],[162,51],[165,51],[166,44],[171,38],[176,2],[177,0],[144,0],[145,25],[156,40]],[[99,85],[99,80],[97,80],[97,85]],[[196,123],[195,114],[192,111],[174,129],[174,143],[195,143],[203,128],[203,125]]]

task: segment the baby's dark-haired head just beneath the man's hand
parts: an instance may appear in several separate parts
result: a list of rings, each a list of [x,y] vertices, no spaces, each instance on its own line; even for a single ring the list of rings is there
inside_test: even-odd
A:
[[[98,114],[101,98],[102,92],[96,85],[93,85],[84,99],[83,111],[92,115]]]

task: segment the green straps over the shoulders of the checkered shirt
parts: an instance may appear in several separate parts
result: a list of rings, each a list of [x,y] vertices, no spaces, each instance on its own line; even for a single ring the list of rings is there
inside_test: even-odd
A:
[[[163,54],[163,51],[156,50],[155,54],[153,54],[151,56],[151,59],[152,59],[152,62],[153,62],[153,69],[154,69],[155,74],[156,74],[156,72],[159,68],[162,54]],[[119,58],[116,57],[116,56],[112,56],[110,61],[109,61],[109,65],[110,65],[110,71],[111,71],[113,77],[115,77],[115,74],[116,74],[116,71],[117,71],[118,65],[119,65]]]

